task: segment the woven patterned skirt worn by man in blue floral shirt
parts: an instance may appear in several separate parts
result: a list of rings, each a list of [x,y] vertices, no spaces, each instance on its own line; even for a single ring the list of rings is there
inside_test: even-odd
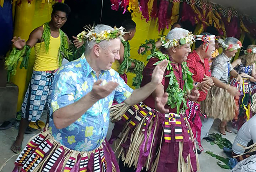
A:
[[[49,131],[31,140],[15,161],[13,172],[115,172],[119,166],[115,155],[104,141],[89,152],[71,150],[57,142]]]

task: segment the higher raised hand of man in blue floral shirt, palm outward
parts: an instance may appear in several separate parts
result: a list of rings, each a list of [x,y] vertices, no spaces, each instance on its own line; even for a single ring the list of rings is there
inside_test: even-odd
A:
[[[166,70],[167,64],[168,64],[168,61],[166,59],[164,59],[159,64],[157,64],[157,66],[155,67],[155,69],[152,72],[151,82],[153,84],[158,85],[162,82],[164,71]]]

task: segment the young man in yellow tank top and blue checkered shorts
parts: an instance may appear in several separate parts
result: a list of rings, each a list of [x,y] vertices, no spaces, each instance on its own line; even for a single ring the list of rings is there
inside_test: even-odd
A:
[[[29,87],[22,103],[22,119],[20,121],[19,133],[11,147],[11,150],[15,153],[21,151],[23,136],[30,121],[37,122],[45,106],[49,111],[52,92],[51,84],[55,72],[61,66],[63,56],[66,58],[68,56],[68,44],[72,44],[67,35],[60,30],[67,21],[68,14],[70,13],[69,6],[63,3],[56,3],[52,7],[51,21],[35,28],[30,33],[27,42],[20,37],[14,37],[12,40],[16,51],[22,51],[24,49],[25,55],[21,58],[23,58],[22,65],[25,68],[27,67],[25,56],[28,57],[30,48],[35,47],[35,65]],[[79,42],[74,36],[73,38],[75,39],[74,46],[80,48],[83,42]],[[9,59],[6,59],[7,68],[12,74],[15,74],[16,66],[8,66]]]

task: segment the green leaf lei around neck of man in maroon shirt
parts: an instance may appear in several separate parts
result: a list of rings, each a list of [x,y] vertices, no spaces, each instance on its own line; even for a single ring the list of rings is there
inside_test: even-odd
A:
[[[177,82],[177,79],[174,75],[174,71],[172,68],[172,65],[169,59],[169,56],[167,54],[163,54],[161,51],[156,51],[153,54],[149,55],[147,60],[150,58],[158,58],[160,61],[156,62],[154,65],[159,64],[164,59],[169,60],[167,64],[167,70],[170,71],[168,75],[165,77],[169,77],[169,85],[166,89],[166,92],[168,93],[168,101],[167,105],[170,106],[170,108],[177,107],[177,114],[181,111],[182,113],[185,112],[187,109],[187,100],[186,95],[188,92],[190,92],[193,89],[193,79],[192,79],[192,73],[188,71],[188,66],[186,62],[182,62],[182,74],[183,74],[183,80],[185,82],[183,86],[183,90],[179,87],[179,83]],[[180,109],[180,105],[183,102],[183,107]]]

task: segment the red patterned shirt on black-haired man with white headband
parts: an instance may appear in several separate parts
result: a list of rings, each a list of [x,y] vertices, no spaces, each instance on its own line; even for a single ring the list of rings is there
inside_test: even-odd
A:
[[[202,82],[204,74],[206,74],[207,76],[211,76],[211,70],[208,59],[204,59],[204,62],[202,62],[196,51],[193,51],[193,53],[190,53],[188,55],[187,63],[189,71],[193,73],[192,77],[195,82]],[[198,101],[205,100],[207,91],[206,93],[199,91],[199,93],[200,97],[198,98]]]

